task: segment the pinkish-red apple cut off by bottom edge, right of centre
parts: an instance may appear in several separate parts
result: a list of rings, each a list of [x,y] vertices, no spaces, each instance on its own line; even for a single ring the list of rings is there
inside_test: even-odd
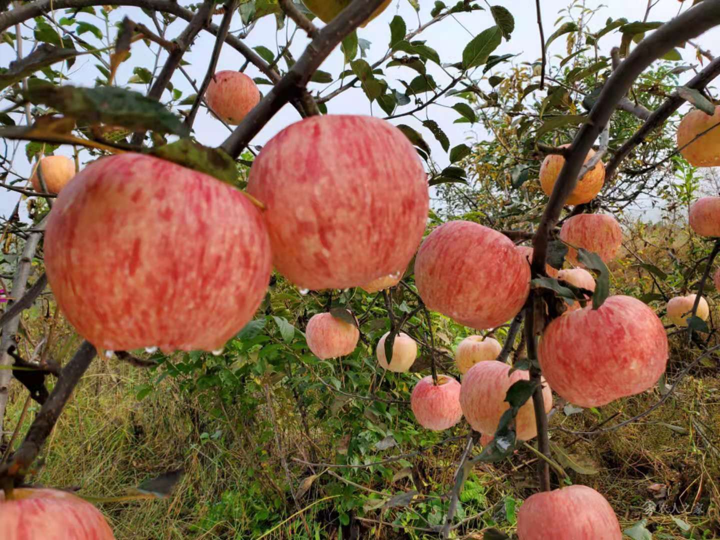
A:
[[[610,503],[585,485],[536,493],[518,510],[518,540],[622,540],[622,537]]]

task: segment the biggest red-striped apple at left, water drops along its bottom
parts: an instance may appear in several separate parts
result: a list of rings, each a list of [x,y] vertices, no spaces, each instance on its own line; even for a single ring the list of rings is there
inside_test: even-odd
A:
[[[125,153],[91,163],[60,192],[45,269],[60,310],[98,348],[214,351],[260,305],[270,242],[237,189]]]

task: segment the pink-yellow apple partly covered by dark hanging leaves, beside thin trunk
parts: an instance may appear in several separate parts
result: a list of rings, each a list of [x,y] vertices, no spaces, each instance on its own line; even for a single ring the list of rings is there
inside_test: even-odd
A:
[[[529,380],[530,374],[522,369],[510,373],[510,366],[497,360],[488,360],[472,366],[462,379],[460,407],[465,419],[475,431],[492,436],[498,429],[500,417],[510,408],[505,401],[508,388],[519,380]],[[543,382],[545,412],[552,408],[552,391]],[[518,440],[529,441],[537,436],[532,400],[518,411],[515,431]]]

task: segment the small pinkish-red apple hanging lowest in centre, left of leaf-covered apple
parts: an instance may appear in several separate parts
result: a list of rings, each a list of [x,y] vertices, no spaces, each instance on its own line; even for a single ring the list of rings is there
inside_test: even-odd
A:
[[[433,431],[449,429],[462,418],[460,383],[447,375],[438,375],[433,384],[432,375],[423,377],[410,394],[410,408],[420,426]]]

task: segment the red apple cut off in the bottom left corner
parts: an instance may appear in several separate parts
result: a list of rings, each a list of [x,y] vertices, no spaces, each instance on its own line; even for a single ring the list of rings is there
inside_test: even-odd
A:
[[[81,498],[60,490],[16,487],[12,500],[0,491],[3,540],[113,540],[102,513]]]

